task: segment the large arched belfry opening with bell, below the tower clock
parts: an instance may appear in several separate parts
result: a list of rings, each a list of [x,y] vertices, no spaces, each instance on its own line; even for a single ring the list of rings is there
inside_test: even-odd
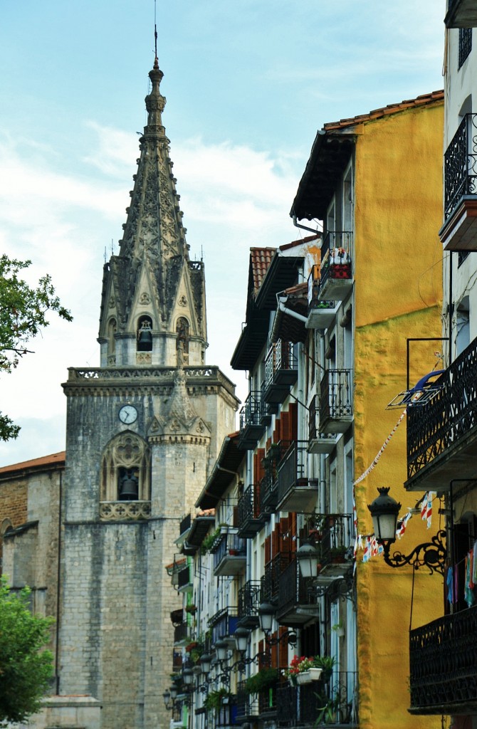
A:
[[[101,501],[150,500],[150,450],[139,435],[121,433],[106,446],[101,463]]]

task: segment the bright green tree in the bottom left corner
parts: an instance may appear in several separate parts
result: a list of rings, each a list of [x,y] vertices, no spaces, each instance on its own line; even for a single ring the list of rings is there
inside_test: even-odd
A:
[[[12,593],[0,579],[0,726],[21,722],[41,708],[53,675],[51,617],[31,615],[30,590]]]

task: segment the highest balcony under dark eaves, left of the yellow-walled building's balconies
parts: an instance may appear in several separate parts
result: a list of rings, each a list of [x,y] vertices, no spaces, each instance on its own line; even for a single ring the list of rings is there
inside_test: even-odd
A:
[[[263,398],[272,405],[281,405],[290,387],[298,378],[298,360],[290,342],[279,339],[272,344],[265,356],[265,382]]]

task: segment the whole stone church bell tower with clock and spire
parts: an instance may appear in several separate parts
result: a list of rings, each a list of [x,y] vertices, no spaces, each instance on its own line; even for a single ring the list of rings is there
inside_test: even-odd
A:
[[[189,257],[150,71],[120,252],[104,266],[101,366],[71,367],[61,555],[61,695],[100,701],[101,729],[166,729],[170,612],[166,566],[238,401],[205,365],[203,262]]]

